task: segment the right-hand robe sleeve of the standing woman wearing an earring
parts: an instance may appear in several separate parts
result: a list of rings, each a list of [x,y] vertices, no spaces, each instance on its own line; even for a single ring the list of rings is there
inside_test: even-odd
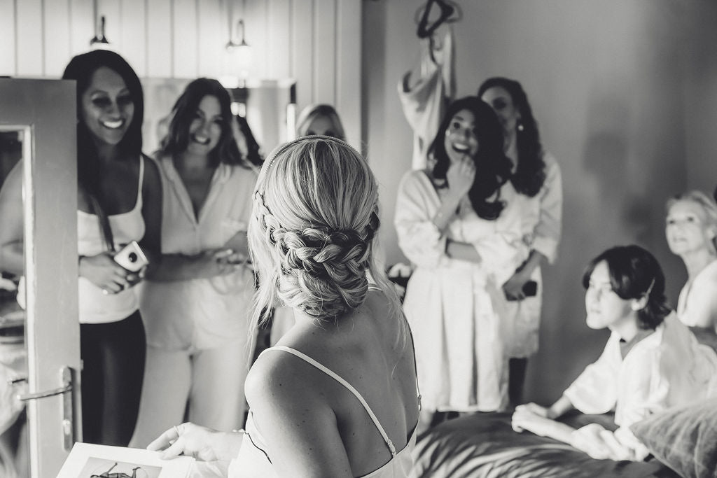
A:
[[[560,166],[555,158],[546,153],[546,178],[540,195],[540,219],[533,231],[533,249],[555,261],[560,242],[563,218],[563,182]]]

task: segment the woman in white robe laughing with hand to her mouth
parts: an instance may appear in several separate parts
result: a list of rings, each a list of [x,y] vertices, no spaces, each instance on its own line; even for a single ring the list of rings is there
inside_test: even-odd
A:
[[[416,339],[422,426],[437,411],[507,404],[500,286],[527,249],[498,118],[478,97],[448,107],[432,167],[399,186],[399,246],[415,265],[404,310]]]

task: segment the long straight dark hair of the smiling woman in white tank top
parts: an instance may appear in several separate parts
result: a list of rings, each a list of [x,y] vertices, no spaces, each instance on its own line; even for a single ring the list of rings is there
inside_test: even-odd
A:
[[[142,85],[130,64],[119,54],[106,49],[78,54],[70,60],[62,73],[63,80],[77,82],[77,182],[82,190],[103,202],[100,191],[100,178],[103,166],[98,161],[98,150],[92,133],[82,121],[82,95],[90,87],[92,75],[100,67],[108,67],[116,72],[125,82],[134,104],[132,122],[117,147],[123,156],[137,156],[142,153],[142,120],[144,118],[144,95]]]

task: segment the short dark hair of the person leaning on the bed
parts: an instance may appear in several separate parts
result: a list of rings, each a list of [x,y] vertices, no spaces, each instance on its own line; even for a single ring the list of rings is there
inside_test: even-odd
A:
[[[623,300],[647,295],[647,304],[637,311],[642,329],[657,328],[672,310],[665,296],[665,274],[655,256],[640,246],[616,246],[607,249],[587,264],[582,284],[587,289],[597,264],[604,261],[612,291]]]

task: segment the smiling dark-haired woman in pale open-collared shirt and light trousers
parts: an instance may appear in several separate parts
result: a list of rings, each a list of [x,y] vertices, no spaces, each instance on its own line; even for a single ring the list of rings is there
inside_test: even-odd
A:
[[[246,234],[257,176],[239,153],[233,121],[227,90],[194,80],[156,153],[163,255],[140,294],[147,368],[133,446],[146,446],[185,410],[214,429],[242,426],[254,292]]]

